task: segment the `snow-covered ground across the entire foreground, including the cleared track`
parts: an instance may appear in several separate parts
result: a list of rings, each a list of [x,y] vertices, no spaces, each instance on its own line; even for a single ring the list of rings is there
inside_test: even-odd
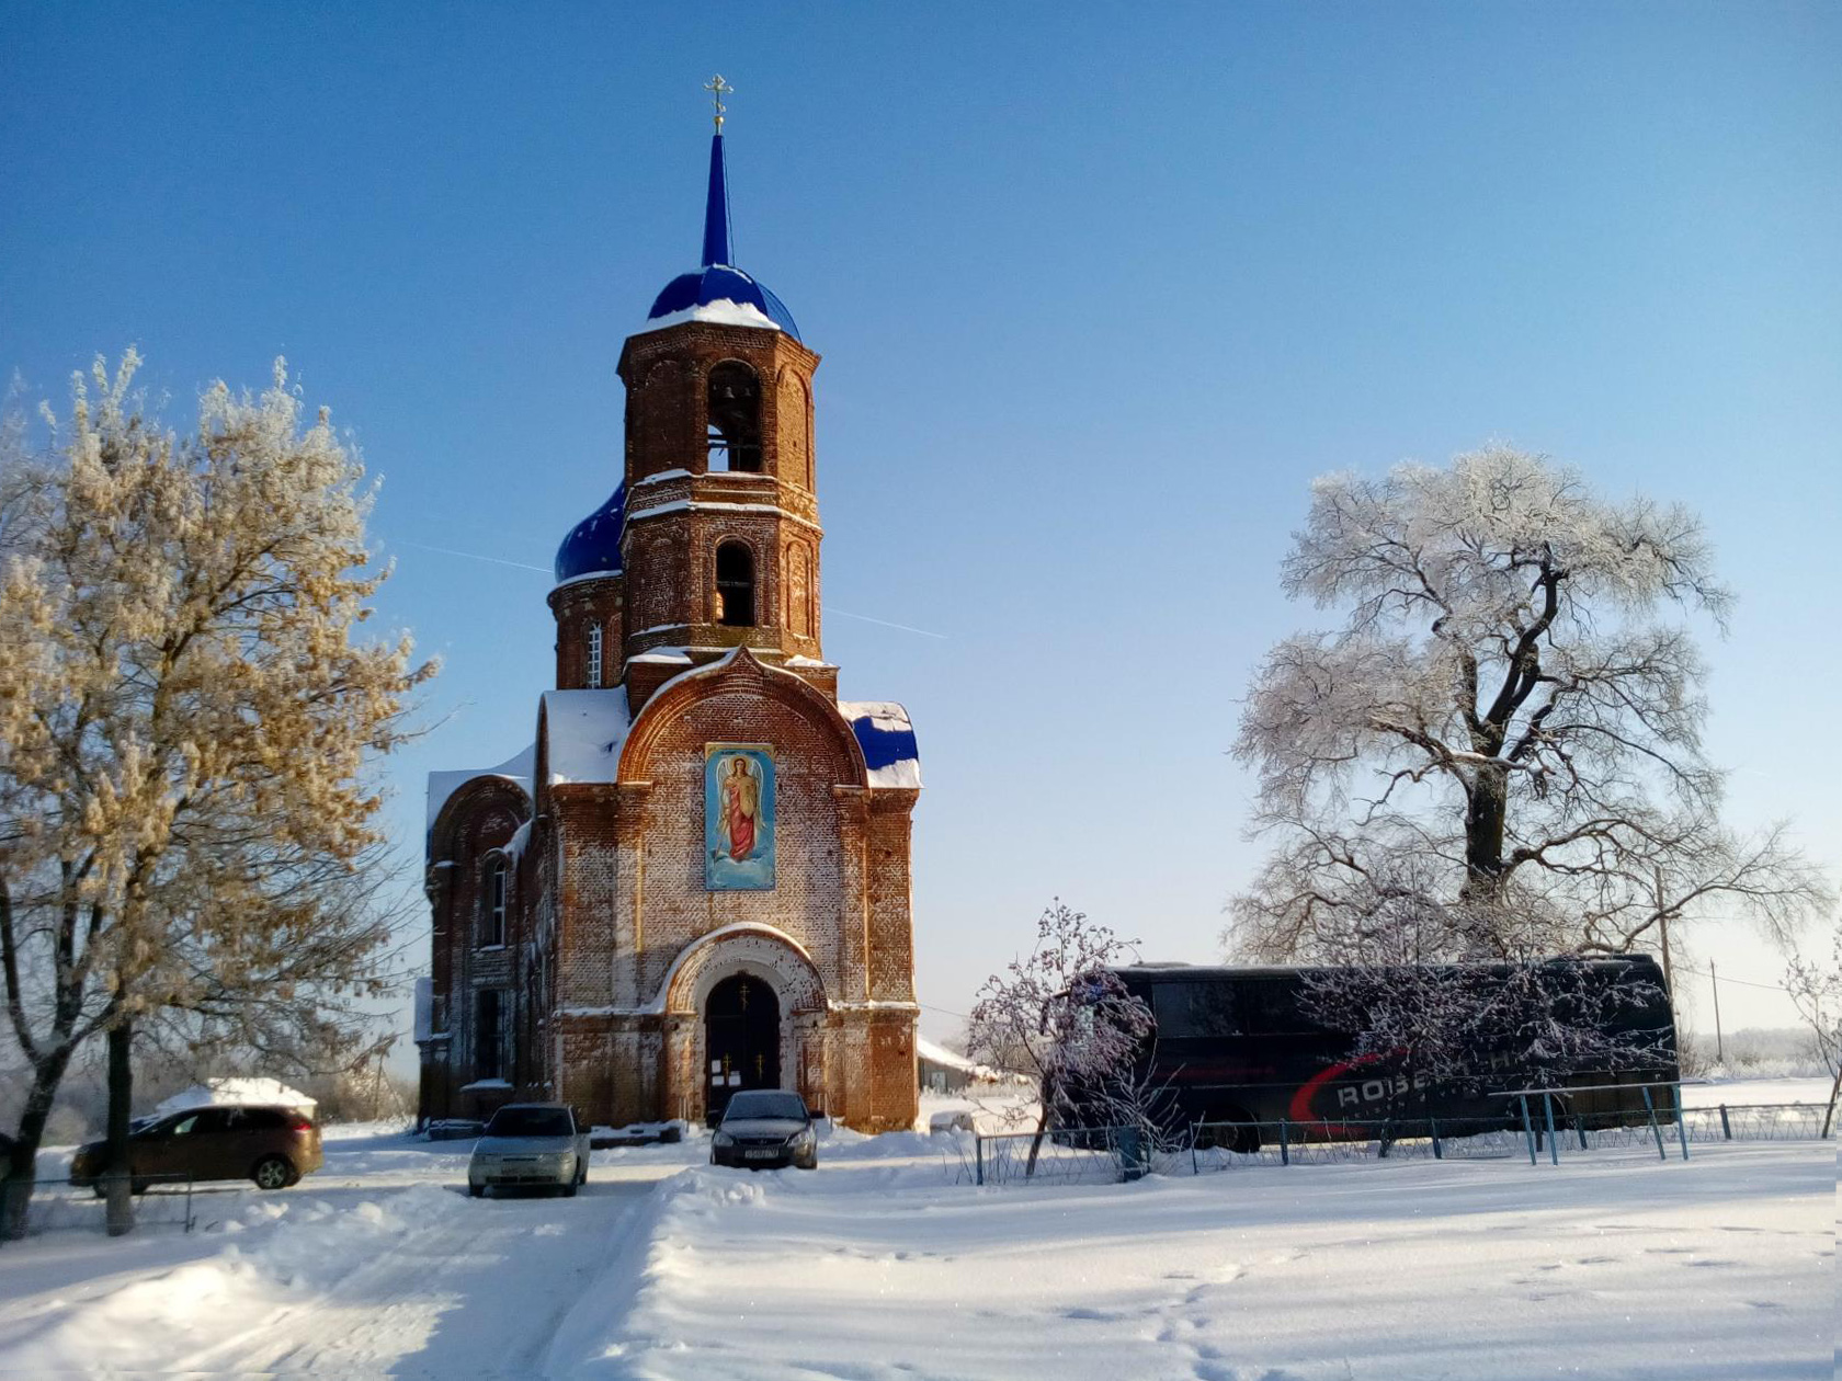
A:
[[[816,1175],[702,1158],[600,1153],[580,1199],[475,1202],[462,1149],[333,1140],[326,1173],[214,1195],[190,1237],[0,1250],[0,1375],[1746,1381],[1835,1357],[1833,1143],[984,1191],[915,1134],[840,1132]]]

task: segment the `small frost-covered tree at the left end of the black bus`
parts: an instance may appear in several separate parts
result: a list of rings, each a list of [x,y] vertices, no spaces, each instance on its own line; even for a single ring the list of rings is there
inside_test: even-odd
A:
[[[1113,972],[1131,941],[1055,902],[1037,919],[1035,946],[978,989],[965,1051],[1037,1085],[1035,1171],[1043,1134],[1076,1096],[1129,1092],[1133,1057],[1151,1035],[1151,1013]]]

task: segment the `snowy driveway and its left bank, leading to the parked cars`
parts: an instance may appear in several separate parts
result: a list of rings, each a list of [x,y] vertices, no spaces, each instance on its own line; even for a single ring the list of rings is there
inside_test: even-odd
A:
[[[575,1199],[473,1201],[464,1166],[464,1151],[348,1136],[291,1191],[199,1195],[190,1236],[68,1232],[0,1252],[0,1375],[538,1375],[682,1160],[597,1164]]]

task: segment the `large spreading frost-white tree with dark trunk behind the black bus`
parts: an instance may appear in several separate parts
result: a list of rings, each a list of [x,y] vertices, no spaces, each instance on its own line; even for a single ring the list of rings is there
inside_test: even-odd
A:
[[[1719,900],[1827,895],[1783,829],[1720,823],[1702,661],[1724,626],[1696,517],[1501,446],[1313,484],[1284,562],[1339,626],[1275,646],[1236,755],[1278,841],[1225,941],[1264,959],[1625,954]]]

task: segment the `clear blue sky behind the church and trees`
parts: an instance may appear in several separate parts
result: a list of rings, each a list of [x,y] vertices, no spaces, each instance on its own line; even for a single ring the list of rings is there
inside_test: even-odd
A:
[[[553,665],[542,571],[429,547],[547,567],[613,486],[720,70],[737,258],[825,355],[825,648],[914,713],[921,1000],[965,1011],[1052,895],[1218,954],[1310,477],[1486,438],[1702,510],[1731,818],[1842,864],[1838,66],[1833,4],[13,4],[0,368],[61,400],[136,342],[182,422],[286,354],[333,407],[383,622],[446,661],[420,854],[422,773],[523,746]]]

